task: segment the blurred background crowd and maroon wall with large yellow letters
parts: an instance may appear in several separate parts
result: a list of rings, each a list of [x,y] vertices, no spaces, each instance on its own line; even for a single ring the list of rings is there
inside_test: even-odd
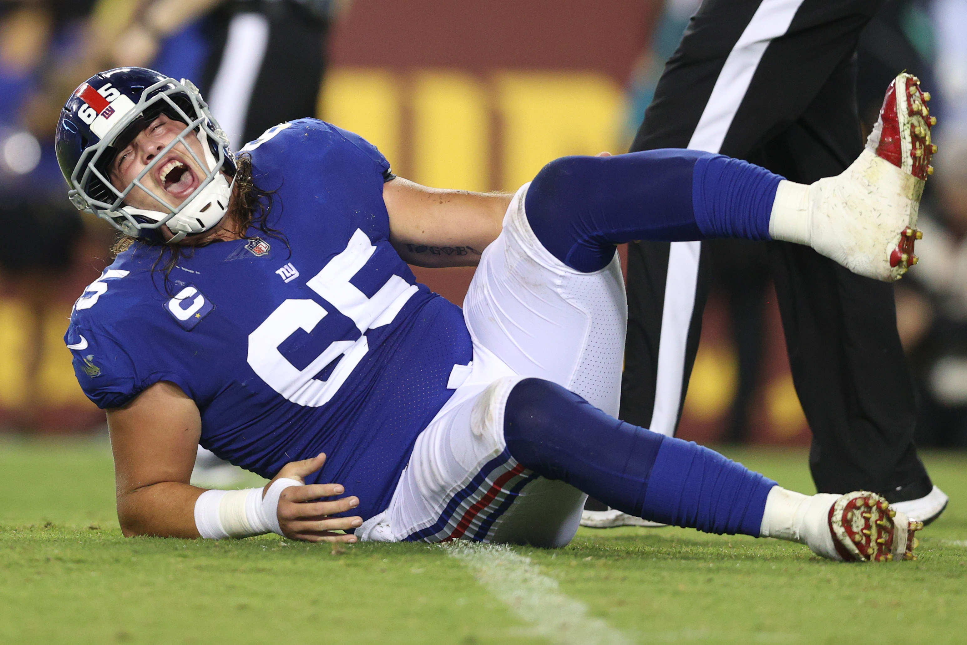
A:
[[[0,0],[0,432],[90,433],[62,339],[110,262],[112,230],[73,210],[53,154],[60,106],[123,65],[190,78],[235,147],[318,116],[359,132],[396,174],[513,191],[572,154],[624,152],[696,0]],[[875,120],[902,70],[934,96],[940,153],[923,258],[896,287],[924,446],[967,446],[967,2],[891,0],[859,52]],[[460,304],[471,269],[417,276]],[[679,436],[806,446],[765,252],[716,249],[717,283]]]

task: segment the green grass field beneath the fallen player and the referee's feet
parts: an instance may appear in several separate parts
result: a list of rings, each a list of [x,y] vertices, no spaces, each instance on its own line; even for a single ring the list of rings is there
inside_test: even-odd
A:
[[[732,452],[811,491],[806,454]],[[582,529],[550,551],[125,540],[105,441],[0,441],[0,643],[963,643],[967,454],[927,454],[952,498],[917,562]]]

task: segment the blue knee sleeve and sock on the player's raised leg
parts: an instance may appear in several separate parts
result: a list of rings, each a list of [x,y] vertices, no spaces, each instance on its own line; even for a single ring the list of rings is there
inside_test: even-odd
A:
[[[524,210],[545,249],[590,273],[631,240],[769,240],[781,180],[746,161],[695,150],[562,157],[534,178]]]

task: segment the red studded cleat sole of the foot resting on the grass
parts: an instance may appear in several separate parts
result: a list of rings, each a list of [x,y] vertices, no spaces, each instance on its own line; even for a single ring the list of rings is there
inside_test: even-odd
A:
[[[836,553],[847,562],[917,559],[914,533],[923,523],[897,513],[876,493],[841,495],[830,509],[829,525]]]

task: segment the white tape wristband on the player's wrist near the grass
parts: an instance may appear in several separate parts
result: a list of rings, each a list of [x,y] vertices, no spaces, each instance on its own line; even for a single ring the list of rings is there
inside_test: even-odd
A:
[[[263,533],[278,533],[278,497],[296,480],[281,478],[265,488],[244,490],[206,490],[194,503],[194,525],[208,540],[248,538]],[[262,496],[262,493],[265,496]]]

